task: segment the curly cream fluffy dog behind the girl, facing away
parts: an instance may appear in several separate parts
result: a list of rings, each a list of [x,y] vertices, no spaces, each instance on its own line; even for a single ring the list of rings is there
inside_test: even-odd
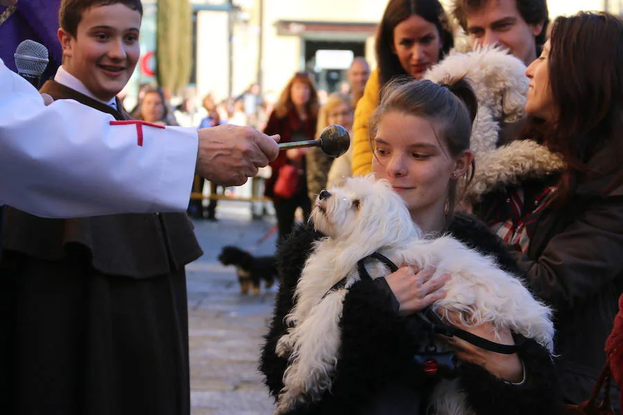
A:
[[[485,46],[468,53],[453,51],[424,74],[424,79],[433,82],[462,77],[478,98],[469,147],[476,154],[478,168],[464,199],[477,203],[482,194],[500,184],[516,184],[526,176],[541,177],[563,169],[558,154],[531,140],[516,140],[498,148],[503,125],[519,125],[525,117],[529,80],[521,60],[507,50]]]

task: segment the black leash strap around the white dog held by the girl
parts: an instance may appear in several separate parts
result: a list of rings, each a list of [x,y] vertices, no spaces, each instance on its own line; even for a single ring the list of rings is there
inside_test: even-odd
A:
[[[365,261],[368,259],[378,259],[384,265],[386,265],[392,273],[395,273],[398,270],[396,264],[394,264],[388,257],[385,255],[379,254],[379,252],[374,252],[368,257],[360,259],[357,262],[357,270],[359,271],[359,276],[361,279],[372,279],[368,270],[365,269]],[[329,291],[323,295],[323,298],[332,293],[333,291],[337,291],[338,289],[344,288],[346,285],[346,278],[338,281],[334,286],[329,288]],[[525,342],[525,338],[523,336],[517,336],[516,344],[501,344],[496,342],[491,342],[491,340],[487,340],[485,338],[481,338],[478,335],[469,333],[469,331],[464,331],[463,329],[459,329],[458,327],[451,326],[450,324],[446,324],[443,322],[440,317],[433,311],[433,308],[430,306],[424,308],[424,310],[417,313],[419,317],[424,318],[426,322],[431,324],[433,333],[445,335],[447,337],[456,336],[462,340],[465,340],[468,343],[473,344],[476,347],[480,347],[480,349],[485,349],[488,351],[493,351],[495,353],[502,354],[513,354],[516,353],[517,349],[521,347],[521,345]]]

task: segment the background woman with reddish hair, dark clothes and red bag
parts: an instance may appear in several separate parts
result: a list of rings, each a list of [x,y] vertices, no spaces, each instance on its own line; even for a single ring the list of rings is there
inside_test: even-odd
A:
[[[318,95],[316,86],[308,73],[299,72],[291,77],[283,89],[275,109],[269,116],[264,133],[280,134],[280,142],[313,140],[316,136],[318,122]],[[307,220],[311,211],[311,201],[307,197],[307,178],[305,170],[305,153],[307,149],[289,149],[282,151],[278,158],[270,164],[272,175],[266,183],[264,194],[275,205],[279,239],[284,239],[294,225],[296,208],[303,209]],[[276,183],[280,175],[282,180],[286,174],[291,178],[289,192],[282,192],[283,187]],[[289,193],[289,194],[288,194]]]

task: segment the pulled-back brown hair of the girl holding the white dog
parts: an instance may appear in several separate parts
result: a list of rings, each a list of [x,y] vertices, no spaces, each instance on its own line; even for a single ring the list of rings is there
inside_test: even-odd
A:
[[[451,157],[458,157],[469,149],[478,100],[467,80],[461,78],[446,82],[435,84],[429,80],[413,80],[410,77],[389,82],[381,91],[381,104],[370,117],[370,145],[372,146],[372,140],[377,135],[383,115],[395,111],[429,120],[433,124],[437,140],[445,145]],[[473,178],[473,161],[470,167],[466,173],[467,183],[464,188],[469,186]],[[457,183],[456,179],[450,183],[446,226],[452,220],[456,205]]]

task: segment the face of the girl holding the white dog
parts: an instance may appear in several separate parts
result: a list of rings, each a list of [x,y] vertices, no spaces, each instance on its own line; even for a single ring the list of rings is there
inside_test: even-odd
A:
[[[426,118],[390,111],[377,126],[372,172],[390,182],[416,220],[443,212],[453,174],[467,169],[441,142]]]

